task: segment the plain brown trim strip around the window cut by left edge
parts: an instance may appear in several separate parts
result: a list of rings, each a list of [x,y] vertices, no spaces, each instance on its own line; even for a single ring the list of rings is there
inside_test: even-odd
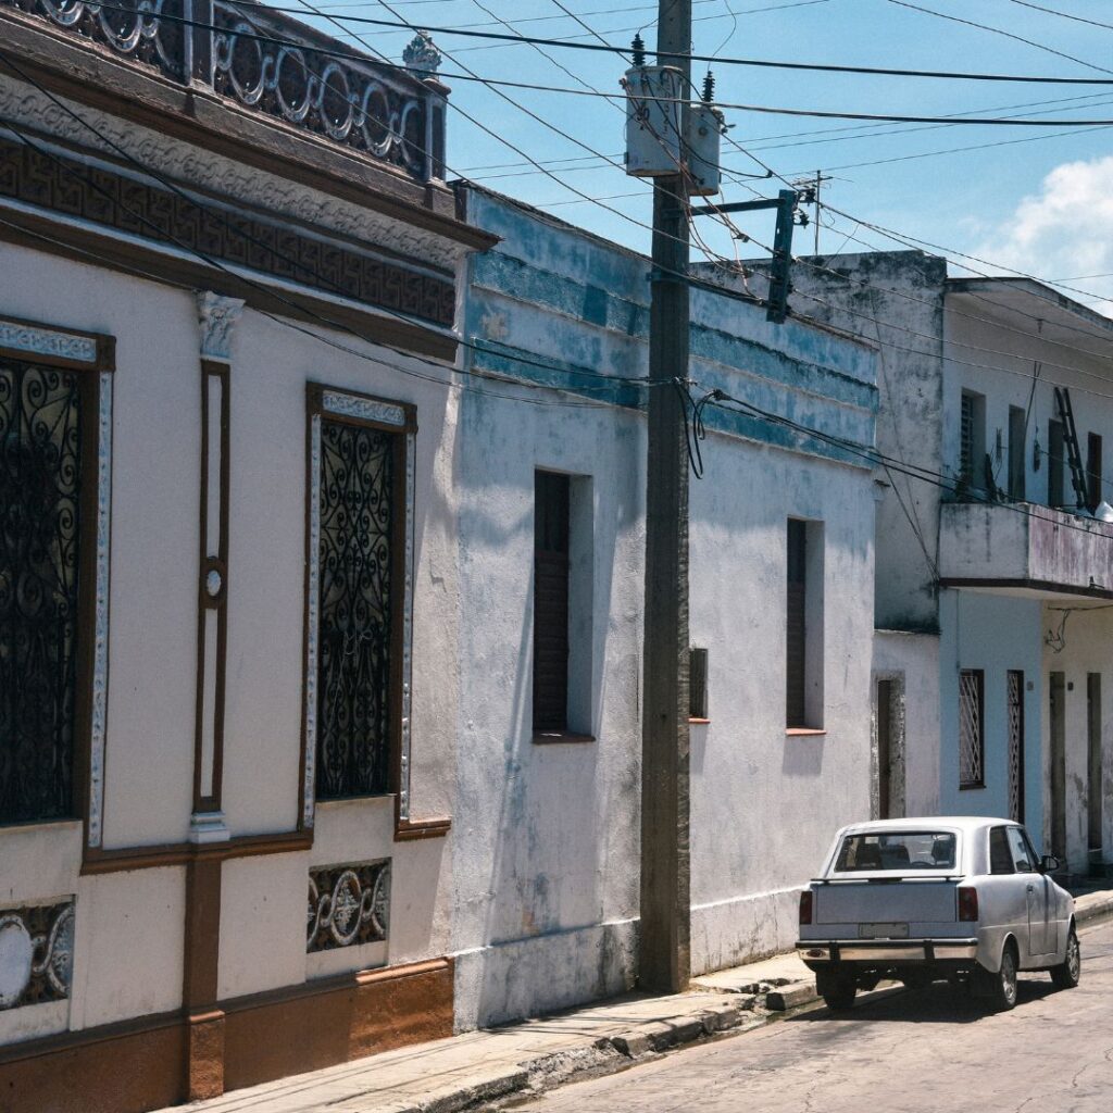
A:
[[[97,512],[100,494],[100,376],[116,371],[116,337],[107,333],[87,332],[45,321],[26,317],[0,316],[0,325],[28,331],[53,333],[71,339],[91,341],[90,359],[72,358],[49,352],[28,349],[0,342],[0,356],[43,367],[77,372],[81,393],[81,528],[78,539],[78,612],[77,612],[77,677],[73,691],[73,756],[72,756],[72,815],[35,819],[9,825],[11,829],[28,826],[71,824],[81,821],[82,856],[89,850],[89,815],[91,811],[91,747],[92,747],[92,688],[96,666],[96,601],[97,601]],[[109,473],[111,487],[111,473]],[[110,528],[110,523],[109,523]],[[108,677],[106,664],[105,707],[108,706]],[[106,735],[107,743],[107,735]],[[104,800],[101,800],[101,807]]]

